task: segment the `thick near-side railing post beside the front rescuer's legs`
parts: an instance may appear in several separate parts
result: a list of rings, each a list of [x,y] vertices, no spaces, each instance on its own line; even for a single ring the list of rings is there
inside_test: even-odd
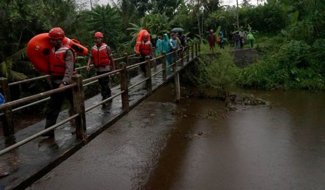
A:
[[[76,113],[79,116],[76,118],[76,136],[78,139],[86,139],[87,129],[86,129],[86,115],[85,115],[85,94],[83,92],[82,77],[80,74],[75,74],[72,76],[72,81],[77,84],[77,86],[72,88],[73,94],[73,106]]]

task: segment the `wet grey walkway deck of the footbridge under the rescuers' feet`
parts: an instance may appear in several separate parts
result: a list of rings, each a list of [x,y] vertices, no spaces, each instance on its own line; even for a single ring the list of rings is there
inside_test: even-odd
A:
[[[184,59],[184,67],[193,62],[195,58],[196,57],[190,57],[188,63],[186,62],[186,59]],[[181,71],[184,67],[177,66],[177,72]],[[156,71],[161,69],[162,65],[157,65],[156,68],[151,69],[151,74],[154,74]],[[162,72],[152,77],[152,91],[155,91],[168,81],[173,80],[174,75],[175,72],[171,71],[167,75],[166,81],[163,81]],[[128,86],[132,86],[142,80],[144,80],[144,77],[141,74],[137,75],[130,80]],[[143,84],[145,84],[145,82]],[[119,86],[112,88],[113,93],[119,91]],[[146,89],[143,88],[142,84],[129,90],[128,94],[130,109],[137,106],[150,95],[147,93]],[[101,100],[102,96],[100,94],[93,96],[85,100],[85,107],[87,108],[92,106]],[[0,179],[0,189],[23,189],[28,186],[66,160],[83,145],[123,117],[125,113],[126,112],[122,110],[121,96],[117,96],[113,99],[111,106],[98,106],[86,112],[87,139],[85,141],[76,139],[73,122],[69,122],[55,130],[55,139],[40,137],[14,149],[6,155],[1,156],[0,171],[6,171],[10,174],[9,176]],[[68,118],[68,115],[68,110],[61,111],[57,121]],[[4,149],[42,131],[44,126],[45,120],[42,120],[34,125],[17,131],[10,137],[1,137],[0,148]]]

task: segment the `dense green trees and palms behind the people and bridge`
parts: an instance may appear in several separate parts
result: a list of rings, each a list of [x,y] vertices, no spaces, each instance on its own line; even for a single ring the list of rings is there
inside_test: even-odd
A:
[[[93,33],[102,31],[114,55],[132,53],[136,33],[144,28],[153,37],[182,27],[188,40],[206,43],[207,31],[221,26],[227,37],[239,26],[258,31],[256,49],[264,56],[240,69],[237,84],[247,88],[323,90],[325,66],[325,2],[315,0],[239,0],[240,7],[212,0],[98,1],[5,0],[0,2],[0,75],[10,81],[35,77],[25,47],[32,36],[61,27],[71,39],[90,48]],[[261,4],[264,2],[263,4]],[[87,57],[78,59],[85,65]],[[86,74],[86,73],[84,73]]]

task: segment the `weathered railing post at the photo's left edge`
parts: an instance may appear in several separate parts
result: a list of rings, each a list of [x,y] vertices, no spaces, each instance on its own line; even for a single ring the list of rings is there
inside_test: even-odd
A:
[[[6,78],[0,78],[0,83],[1,83],[1,89],[2,89],[2,94],[4,95],[4,98],[6,99],[6,102],[10,102],[10,91],[9,91],[9,85],[8,85],[8,79]],[[4,136],[9,136],[15,133],[14,129],[14,122],[13,122],[13,117],[12,117],[12,109],[11,106],[7,107],[4,110],[4,116],[3,118],[3,126],[4,126]]]

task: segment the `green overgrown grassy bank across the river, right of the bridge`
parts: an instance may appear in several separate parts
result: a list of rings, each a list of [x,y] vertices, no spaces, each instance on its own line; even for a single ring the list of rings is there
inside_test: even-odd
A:
[[[280,35],[256,36],[255,49],[263,56],[255,63],[237,68],[230,47],[211,54],[208,45],[201,46],[203,63],[198,66],[200,86],[224,89],[237,85],[249,89],[325,90],[325,40],[310,44]]]

